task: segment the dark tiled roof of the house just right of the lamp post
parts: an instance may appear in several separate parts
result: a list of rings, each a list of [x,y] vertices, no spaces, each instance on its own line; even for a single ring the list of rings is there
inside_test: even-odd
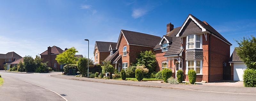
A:
[[[113,42],[96,41],[95,44],[96,44],[97,47],[98,47],[98,51],[108,51],[110,44],[115,45],[116,43],[113,43]],[[111,47],[112,47],[112,45],[111,45]],[[112,47],[112,49],[113,49],[113,47]]]

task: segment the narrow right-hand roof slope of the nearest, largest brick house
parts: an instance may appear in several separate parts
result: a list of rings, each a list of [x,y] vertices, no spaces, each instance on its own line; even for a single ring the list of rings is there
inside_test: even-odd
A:
[[[189,14],[191,15],[191,14]],[[225,42],[227,42],[228,44],[231,44],[230,42],[228,42],[228,40],[226,38],[224,38],[222,35],[220,35],[220,33],[218,31],[216,31],[214,28],[212,28],[212,26],[208,23],[206,23],[205,21],[201,21],[198,18],[194,17],[193,15],[191,15],[199,24],[201,24],[206,30],[211,31],[214,35],[216,35],[217,37],[221,38],[222,40],[224,40]],[[232,45],[232,44],[231,44]]]

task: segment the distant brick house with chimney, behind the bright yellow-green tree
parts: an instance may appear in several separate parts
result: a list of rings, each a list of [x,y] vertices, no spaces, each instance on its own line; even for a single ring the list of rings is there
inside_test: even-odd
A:
[[[64,51],[68,50],[67,48],[65,48]],[[43,63],[48,62],[47,65],[49,67],[51,67],[54,70],[62,70],[64,64],[58,64],[57,60],[55,60],[55,58],[57,57],[58,54],[64,52],[60,47],[57,46],[52,46],[52,47],[48,47],[48,49],[46,51],[44,51],[43,53],[41,53],[41,58],[43,59]],[[75,55],[77,57],[83,57],[82,55]]]

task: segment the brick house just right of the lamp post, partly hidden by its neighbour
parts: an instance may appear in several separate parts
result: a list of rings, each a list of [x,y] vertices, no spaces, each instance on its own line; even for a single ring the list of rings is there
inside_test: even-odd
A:
[[[116,48],[116,43],[96,41],[94,45],[94,64],[102,64],[102,62],[109,56],[112,49]],[[111,50],[110,50],[111,49]]]

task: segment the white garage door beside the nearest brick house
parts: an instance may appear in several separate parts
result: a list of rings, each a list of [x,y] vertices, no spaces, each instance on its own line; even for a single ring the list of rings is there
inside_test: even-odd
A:
[[[246,68],[244,63],[234,63],[234,81],[243,81],[243,74]]]

